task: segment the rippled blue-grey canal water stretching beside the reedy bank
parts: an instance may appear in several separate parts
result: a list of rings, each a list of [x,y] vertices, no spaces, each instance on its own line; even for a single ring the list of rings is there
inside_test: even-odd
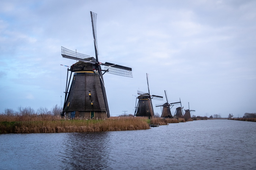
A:
[[[1,134],[0,169],[256,169],[256,123],[197,120],[149,130]]]

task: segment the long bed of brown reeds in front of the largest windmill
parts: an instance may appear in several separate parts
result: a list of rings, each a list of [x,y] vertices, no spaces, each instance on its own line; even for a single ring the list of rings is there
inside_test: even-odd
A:
[[[106,120],[74,119],[64,120],[55,116],[45,118],[31,117],[22,119],[0,116],[0,134],[2,133],[62,133],[62,132],[94,132],[150,129],[147,119],[139,117],[113,118]],[[19,121],[12,121],[12,120]],[[24,119],[24,121],[23,121]]]

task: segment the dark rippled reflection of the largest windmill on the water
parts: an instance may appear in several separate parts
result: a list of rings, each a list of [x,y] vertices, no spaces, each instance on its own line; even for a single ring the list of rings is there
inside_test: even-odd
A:
[[[106,169],[108,132],[67,133],[61,152],[64,169]]]

